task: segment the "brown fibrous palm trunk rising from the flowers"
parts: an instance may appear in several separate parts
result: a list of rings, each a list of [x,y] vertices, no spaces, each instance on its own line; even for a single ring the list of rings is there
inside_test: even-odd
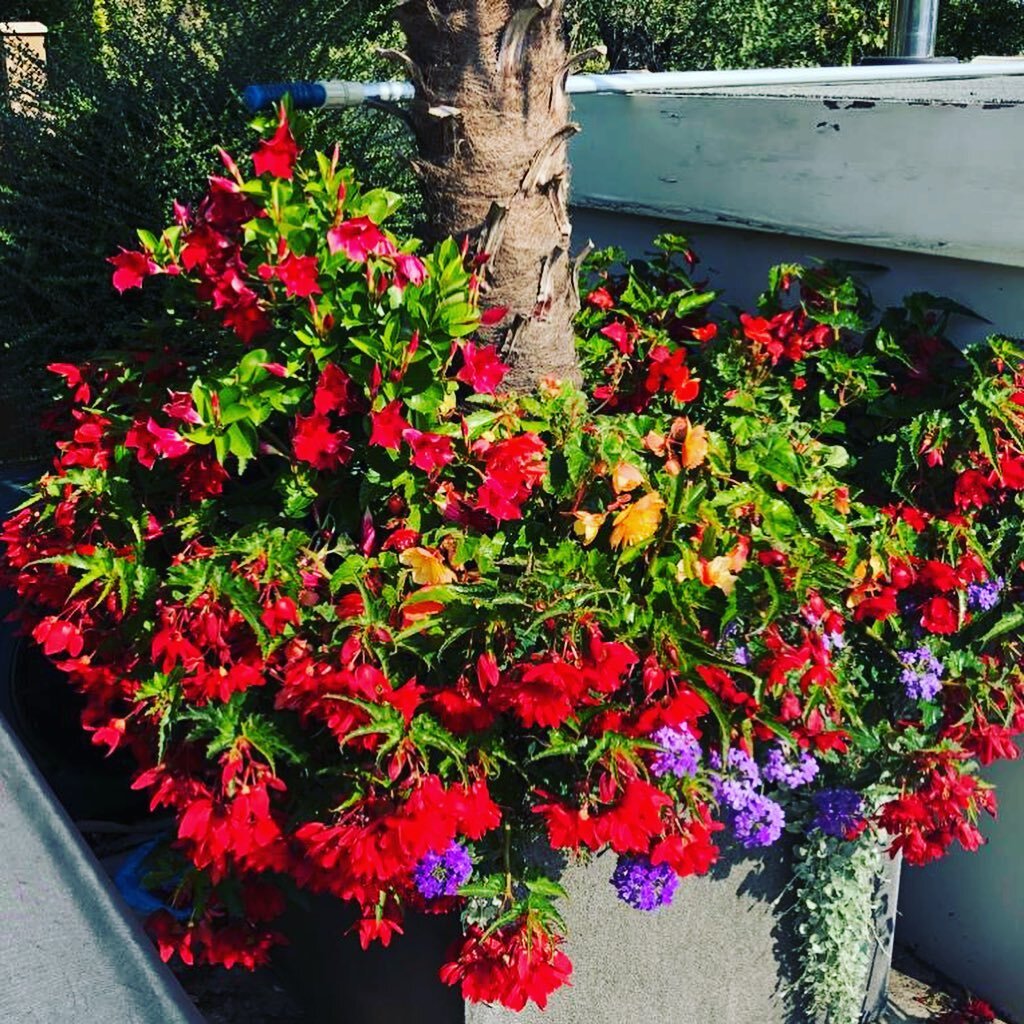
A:
[[[430,232],[470,236],[486,255],[492,329],[508,383],[579,380],[569,252],[569,120],[563,0],[407,0],[397,9],[417,96],[416,169]]]

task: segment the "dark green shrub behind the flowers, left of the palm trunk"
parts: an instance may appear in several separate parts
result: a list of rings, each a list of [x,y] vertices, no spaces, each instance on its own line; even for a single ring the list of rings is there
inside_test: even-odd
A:
[[[14,13],[45,19],[50,36],[39,116],[0,104],[0,343],[18,407],[0,424],[8,459],[39,449],[26,424],[45,364],[116,343],[144,311],[144,300],[117,301],[105,259],[135,224],[201,193],[216,145],[244,152],[241,89],[388,76],[374,50],[397,41],[390,5],[366,0],[311,0],[301,15],[291,0],[72,0]],[[413,187],[396,119],[333,113],[312,134],[321,146],[341,139],[360,173]]]

